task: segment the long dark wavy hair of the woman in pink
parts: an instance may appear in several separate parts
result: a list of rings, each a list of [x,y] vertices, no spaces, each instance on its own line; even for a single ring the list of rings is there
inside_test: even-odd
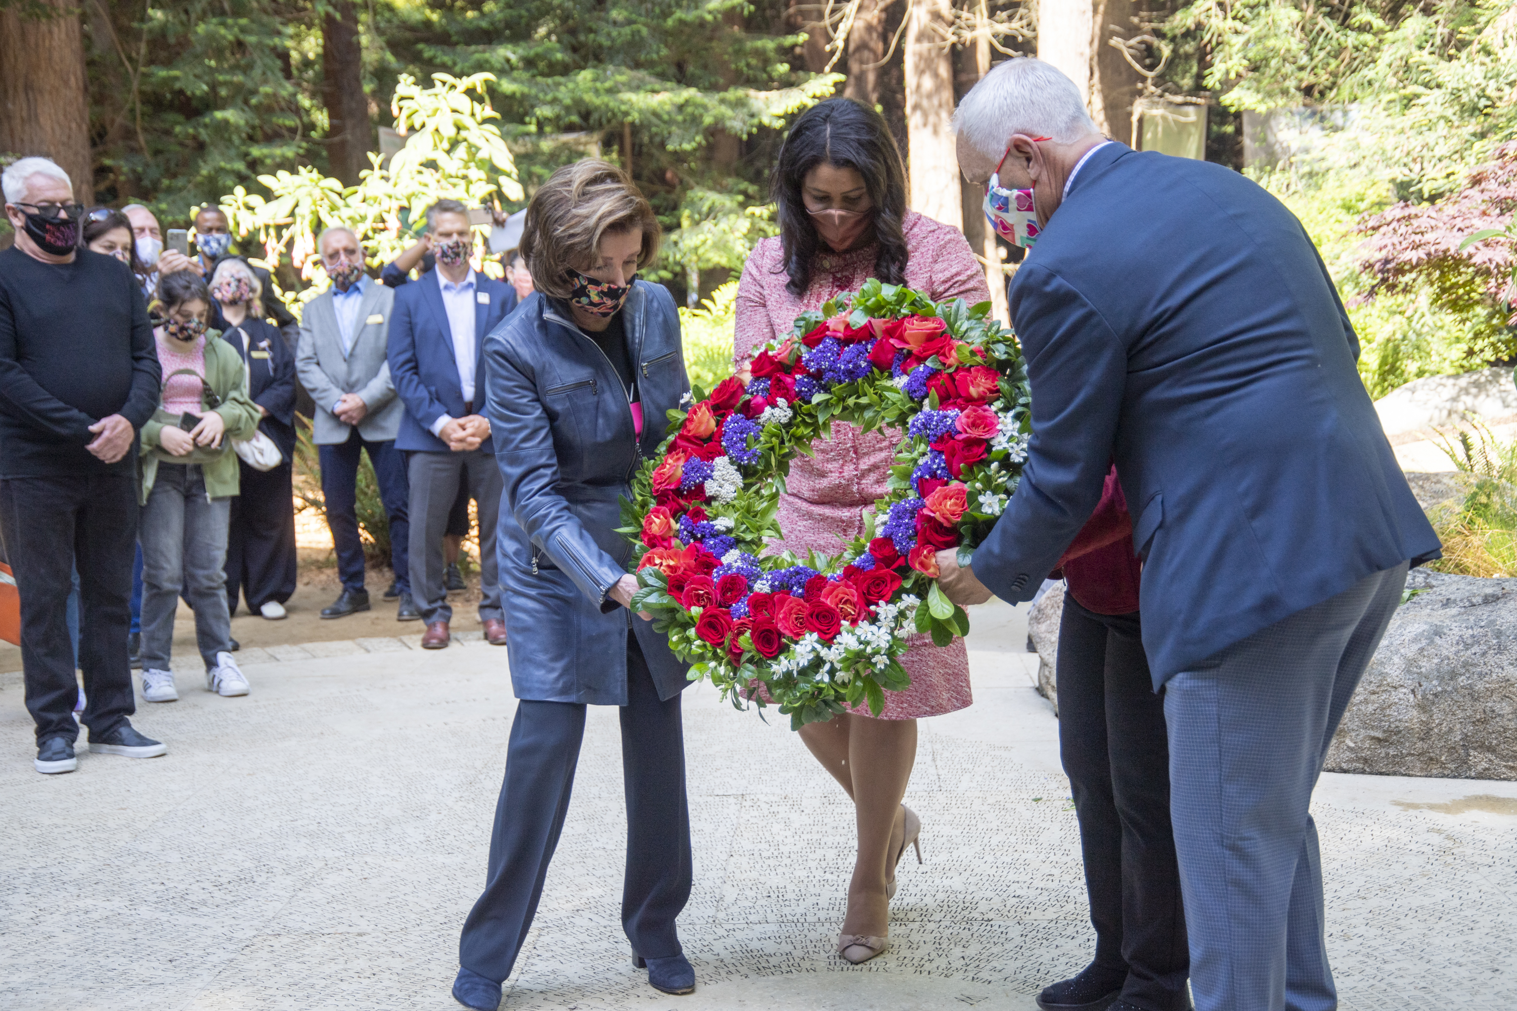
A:
[[[812,286],[812,264],[822,241],[801,200],[806,173],[818,165],[853,168],[863,176],[874,205],[874,236],[880,253],[874,276],[886,283],[906,282],[906,167],[884,117],[853,99],[819,102],[795,120],[774,167],[771,194],[780,211],[786,288],[796,299]]]

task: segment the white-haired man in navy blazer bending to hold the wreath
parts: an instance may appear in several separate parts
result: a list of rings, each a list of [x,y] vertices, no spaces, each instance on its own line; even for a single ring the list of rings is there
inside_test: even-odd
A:
[[[1033,435],[971,567],[939,555],[944,590],[1030,599],[1115,461],[1164,693],[1195,1005],[1335,1008],[1308,805],[1408,565],[1440,555],[1358,336],[1274,197],[1104,141],[1048,64],[998,65],[954,126],[992,221],[1036,235],[1010,286]]]

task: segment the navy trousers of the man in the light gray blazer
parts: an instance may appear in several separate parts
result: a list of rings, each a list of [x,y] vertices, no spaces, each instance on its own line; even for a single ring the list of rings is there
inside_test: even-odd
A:
[[[394,440],[370,443],[352,429],[346,443],[320,446],[322,499],[326,502],[326,524],[332,529],[332,544],[337,549],[337,574],[344,590],[364,588],[364,543],[358,535],[358,465],[361,453],[369,450],[375,479],[379,482],[379,500],[390,520],[390,568],[400,593],[411,591],[410,543],[411,526],[407,505],[411,484],[405,476],[405,453],[394,447]]]

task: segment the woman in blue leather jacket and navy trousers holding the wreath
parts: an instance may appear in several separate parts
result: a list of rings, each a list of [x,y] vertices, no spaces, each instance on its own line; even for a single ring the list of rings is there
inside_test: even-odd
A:
[[[658,221],[620,168],[586,159],[532,196],[522,253],[537,291],[484,343],[505,477],[501,590],[517,709],[484,894],[464,922],[454,997],[495,1011],[563,831],[587,705],[620,706],[627,785],[622,926],[664,993],[695,990],[675,917],[690,896],[680,691],[686,665],[628,609],[637,581],[619,497],[689,390],[680,315],[636,280]]]

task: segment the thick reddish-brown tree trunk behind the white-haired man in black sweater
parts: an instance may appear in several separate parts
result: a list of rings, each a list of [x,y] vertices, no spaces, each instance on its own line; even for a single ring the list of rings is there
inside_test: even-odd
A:
[[[94,202],[90,99],[79,12],[67,0],[38,0],[44,18],[0,9],[0,153],[44,155],[74,183],[74,200]]]

